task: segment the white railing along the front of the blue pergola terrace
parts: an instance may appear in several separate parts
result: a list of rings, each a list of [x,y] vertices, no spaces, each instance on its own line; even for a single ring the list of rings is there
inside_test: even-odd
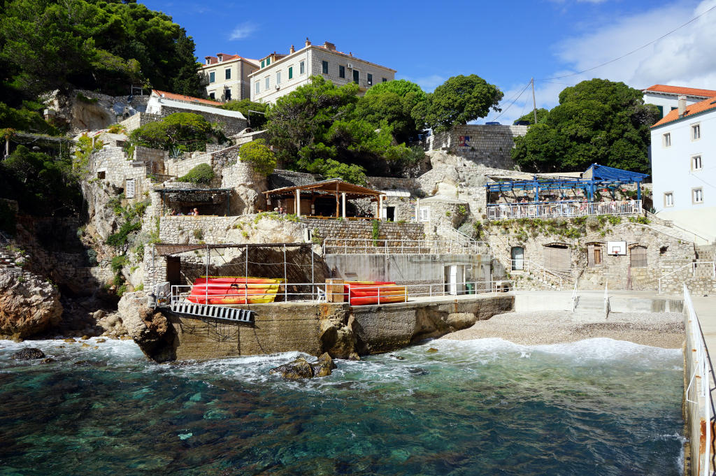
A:
[[[488,204],[487,211],[488,220],[636,215],[642,212],[642,200],[583,203],[493,203]]]

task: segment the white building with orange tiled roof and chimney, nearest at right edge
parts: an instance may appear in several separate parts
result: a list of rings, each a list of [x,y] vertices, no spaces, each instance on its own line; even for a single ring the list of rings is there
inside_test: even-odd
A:
[[[652,126],[654,208],[697,241],[716,241],[716,98],[677,104]]]

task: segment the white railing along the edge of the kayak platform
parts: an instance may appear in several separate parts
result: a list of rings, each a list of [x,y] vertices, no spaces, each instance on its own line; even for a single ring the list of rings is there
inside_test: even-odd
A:
[[[226,294],[226,286],[220,284],[209,284],[204,285],[173,285],[170,288],[169,296],[162,296],[157,302],[162,305],[175,307],[178,303],[184,303],[188,301],[191,292],[196,289],[200,290],[200,293],[195,293],[194,298],[196,301],[202,301],[199,303],[210,303],[213,306],[222,306],[221,303],[216,303],[222,298],[243,298],[243,301],[250,301],[251,299],[258,299],[266,296],[266,293],[259,293],[246,286],[241,286],[234,294]],[[279,284],[279,290],[275,294],[274,302],[271,303],[249,303],[248,306],[266,306],[274,303],[281,304],[285,302],[304,302],[304,303],[316,303],[326,302],[326,293],[329,291],[329,287],[332,290],[335,286],[342,286],[337,283],[283,283]],[[401,286],[405,288],[405,300],[410,301],[410,298],[430,298],[430,297],[441,297],[441,296],[468,296],[471,294],[481,293],[497,293],[511,291],[514,288],[514,281],[511,280],[490,280],[490,281],[468,281],[465,283],[416,283],[416,284],[400,284],[397,285],[376,285],[376,286],[361,286],[361,291],[377,291],[377,303],[381,303],[381,300],[385,300],[389,296],[395,296],[395,293],[383,293],[383,290],[389,291],[395,289],[395,286]],[[221,292],[218,291],[221,289]],[[344,302],[348,302],[348,293],[342,292],[331,292],[334,296],[342,295]],[[159,292],[155,291],[157,296],[160,296]],[[243,303],[225,303],[224,306],[245,306]]]

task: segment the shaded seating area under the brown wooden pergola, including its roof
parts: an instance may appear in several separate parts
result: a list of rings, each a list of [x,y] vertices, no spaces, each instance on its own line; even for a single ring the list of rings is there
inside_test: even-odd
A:
[[[321,180],[308,185],[276,188],[264,192],[266,206],[279,213],[294,213],[302,218],[319,220],[375,220],[378,216],[366,216],[349,200],[368,199],[377,202],[377,210],[382,205],[382,193],[379,190],[344,182],[340,178]]]

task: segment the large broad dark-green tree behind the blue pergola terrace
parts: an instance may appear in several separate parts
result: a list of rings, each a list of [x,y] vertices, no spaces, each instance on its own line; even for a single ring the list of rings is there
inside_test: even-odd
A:
[[[649,127],[659,118],[642,92],[623,82],[591,79],[559,94],[559,105],[525,137],[513,158],[533,172],[586,170],[592,163],[649,173]]]

